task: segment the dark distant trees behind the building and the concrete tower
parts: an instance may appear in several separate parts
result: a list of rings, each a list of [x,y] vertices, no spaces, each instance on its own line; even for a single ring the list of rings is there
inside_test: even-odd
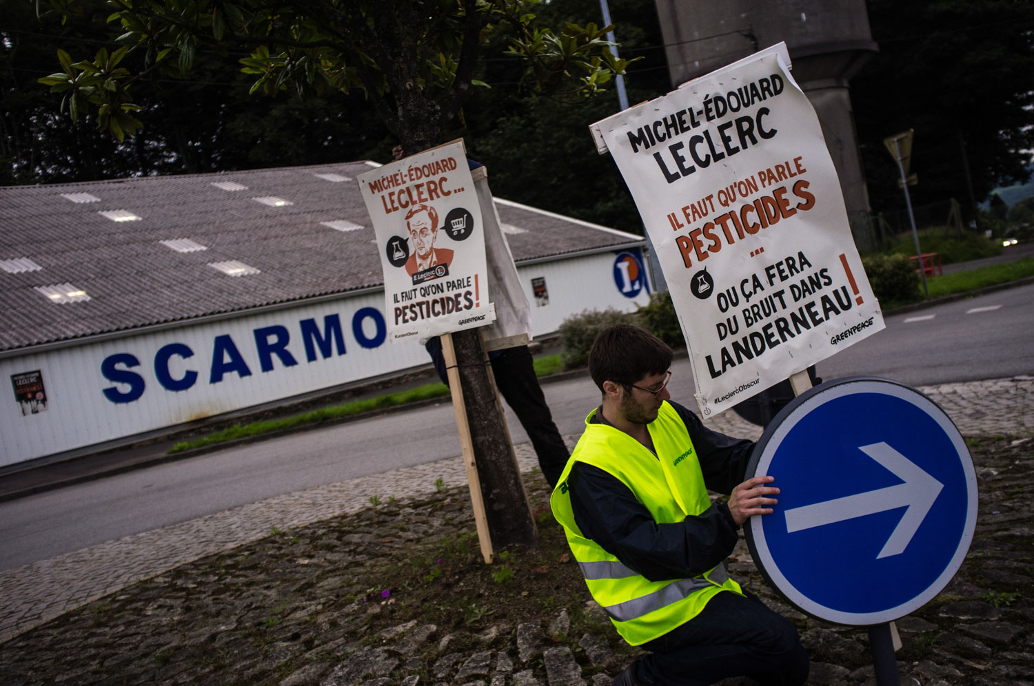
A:
[[[36,15],[32,0],[2,0],[0,184],[56,183],[315,164],[388,161],[399,143],[362,93],[305,100],[291,92],[249,95],[245,52],[197,50],[189,79],[151,74],[134,85],[144,128],[123,142],[91,121],[72,123],[37,83],[58,69],[56,49],[80,59],[113,46],[110,5],[80,0],[79,17]],[[1034,0],[868,0],[880,53],[852,81],[852,102],[874,212],[904,200],[882,139],[913,128],[911,188],[917,204],[980,202],[997,186],[1028,178],[1034,149]],[[670,90],[651,0],[611,0],[634,104]],[[537,11],[554,26],[602,23],[598,0],[553,0]],[[444,138],[465,138],[490,172],[493,192],[625,230],[638,213],[588,124],[618,110],[612,83],[595,98],[547,96],[501,51],[486,51],[478,88]],[[971,191],[972,189],[972,191]]]

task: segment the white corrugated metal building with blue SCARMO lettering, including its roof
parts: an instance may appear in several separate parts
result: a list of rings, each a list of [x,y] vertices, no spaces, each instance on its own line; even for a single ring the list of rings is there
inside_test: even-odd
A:
[[[346,162],[0,188],[0,469],[428,363]],[[648,302],[641,237],[496,199],[533,333]]]

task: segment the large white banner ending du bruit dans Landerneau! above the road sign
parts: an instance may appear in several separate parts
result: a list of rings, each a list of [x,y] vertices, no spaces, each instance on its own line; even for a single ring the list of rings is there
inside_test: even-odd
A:
[[[671,290],[704,415],[883,329],[780,44],[594,124]]]

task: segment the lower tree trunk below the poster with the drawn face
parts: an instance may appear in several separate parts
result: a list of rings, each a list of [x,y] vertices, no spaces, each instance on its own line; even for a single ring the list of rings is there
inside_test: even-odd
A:
[[[492,548],[534,545],[538,530],[481,332],[467,329],[453,333],[452,339]]]

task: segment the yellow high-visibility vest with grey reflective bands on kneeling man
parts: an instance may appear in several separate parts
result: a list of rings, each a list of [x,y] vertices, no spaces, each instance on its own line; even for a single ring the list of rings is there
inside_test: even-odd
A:
[[[681,522],[711,504],[689,432],[670,404],[663,403],[657,419],[647,425],[657,457],[624,431],[592,423],[595,413],[592,410],[585,418],[585,433],[571,454],[549,504],[564,526],[592,599],[607,612],[621,637],[639,646],[699,615],[716,594],[742,592],[721,564],[699,576],[651,582],[582,535],[567,486],[575,462],[592,465],[619,479],[658,524]]]

